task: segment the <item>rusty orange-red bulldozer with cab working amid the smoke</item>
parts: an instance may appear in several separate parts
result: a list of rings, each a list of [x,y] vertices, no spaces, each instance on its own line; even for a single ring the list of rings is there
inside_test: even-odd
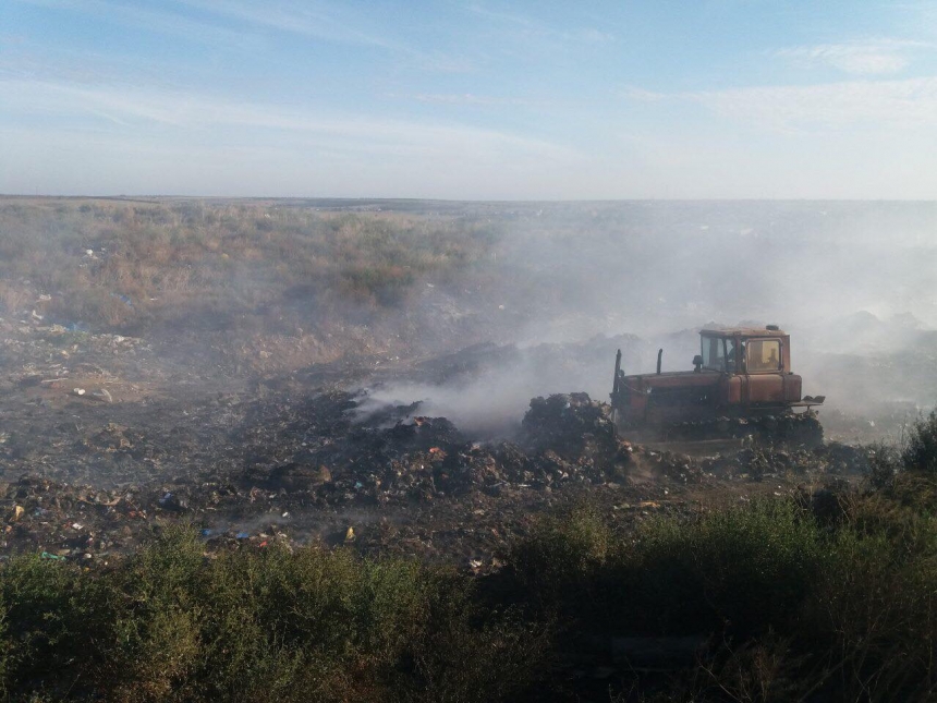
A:
[[[791,338],[777,325],[704,329],[693,369],[626,376],[614,360],[612,419],[619,435],[638,443],[755,440],[808,447],[823,444],[816,407],[791,371]]]

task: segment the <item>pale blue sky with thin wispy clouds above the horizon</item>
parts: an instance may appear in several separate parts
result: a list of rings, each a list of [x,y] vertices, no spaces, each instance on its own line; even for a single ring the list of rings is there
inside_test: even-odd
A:
[[[0,193],[937,196],[937,1],[2,0]]]

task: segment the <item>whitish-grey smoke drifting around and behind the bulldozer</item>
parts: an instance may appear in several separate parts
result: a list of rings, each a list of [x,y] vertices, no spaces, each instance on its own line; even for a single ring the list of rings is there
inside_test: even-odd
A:
[[[618,347],[626,373],[652,372],[659,348],[665,371],[689,369],[701,327],[768,323],[792,335],[804,392],[840,414],[906,416],[937,398],[933,203],[512,204],[489,215],[503,231],[483,286],[460,295],[465,281],[454,281],[424,304],[451,295],[485,335],[473,341],[514,353],[382,387],[374,402],[422,400],[423,414],[503,434],[532,397],[605,399]]]

